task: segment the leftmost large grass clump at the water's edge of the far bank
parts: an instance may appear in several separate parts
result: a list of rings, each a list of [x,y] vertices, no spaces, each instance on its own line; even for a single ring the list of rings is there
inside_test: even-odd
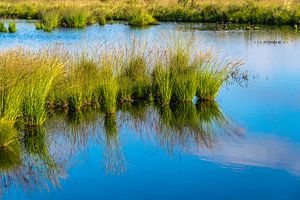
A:
[[[42,29],[51,32],[60,24],[61,14],[58,10],[43,10],[40,12],[41,22],[36,24],[36,29]]]

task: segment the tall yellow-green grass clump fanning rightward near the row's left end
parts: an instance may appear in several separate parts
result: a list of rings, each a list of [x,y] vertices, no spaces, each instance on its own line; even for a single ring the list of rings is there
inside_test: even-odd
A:
[[[22,65],[27,67],[28,77],[23,91],[22,117],[29,126],[41,125],[46,119],[46,99],[54,80],[64,72],[64,61],[51,52],[27,53],[24,59]]]

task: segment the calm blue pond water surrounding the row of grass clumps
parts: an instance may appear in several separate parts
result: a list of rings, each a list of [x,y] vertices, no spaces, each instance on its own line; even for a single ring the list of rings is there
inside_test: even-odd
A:
[[[170,32],[192,33],[200,48],[243,58],[254,75],[248,87],[224,88],[217,103],[124,105],[115,117],[52,114],[44,128],[24,133],[21,154],[1,153],[0,198],[299,199],[300,34],[235,29],[114,24],[46,33],[20,21],[16,34],[0,34],[1,49],[78,50],[133,35],[164,45]]]

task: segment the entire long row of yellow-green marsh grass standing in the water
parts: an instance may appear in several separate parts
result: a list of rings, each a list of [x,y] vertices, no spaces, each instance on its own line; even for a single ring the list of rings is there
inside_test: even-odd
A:
[[[154,101],[164,107],[195,99],[214,101],[224,85],[246,80],[239,60],[221,62],[212,52],[181,42],[174,40],[151,53],[137,42],[119,51],[97,49],[96,55],[3,51],[0,120],[33,127],[56,109],[77,112],[92,107],[114,115],[125,102]]]

